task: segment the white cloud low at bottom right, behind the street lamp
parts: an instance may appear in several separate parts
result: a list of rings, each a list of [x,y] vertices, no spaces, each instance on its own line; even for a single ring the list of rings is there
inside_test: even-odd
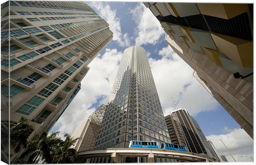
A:
[[[210,135],[207,139],[221,139],[230,150],[232,156],[237,162],[252,161],[253,158],[253,139],[241,128],[229,129],[224,127],[224,130],[230,131],[228,134]],[[230,153],[227,151],[221,141],[211,140],[220,153],[224,155],[228,161],[234,162]],[[242,157],[241,157],[242,156]]]

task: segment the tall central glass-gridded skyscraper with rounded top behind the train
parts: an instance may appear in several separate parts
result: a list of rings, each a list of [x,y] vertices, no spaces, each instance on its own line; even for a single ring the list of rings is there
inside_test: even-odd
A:
[[[147,55],[142,47],[123,52],[95,144],[128,147],[130,140],[171,142]]]

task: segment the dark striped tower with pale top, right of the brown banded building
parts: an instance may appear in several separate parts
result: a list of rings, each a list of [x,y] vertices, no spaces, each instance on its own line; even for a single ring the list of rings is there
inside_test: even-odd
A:
[[[213,148],[211,148],[208,141],[206,141],[206,137],[204,136],[204,133],[199,127],[197,121],[194,120],[186,109],[176,109],[171,115],[174,120],[178,121],[178,125],[181,127],[188,151],[201,153],[219,161],[213,151]]]

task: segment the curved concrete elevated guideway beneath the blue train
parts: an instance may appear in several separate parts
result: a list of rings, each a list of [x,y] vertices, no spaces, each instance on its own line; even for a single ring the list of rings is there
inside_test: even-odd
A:
[[[122,157],[146,157],[147,163],[153,163],[156,158],[171,158],[189,162],[216,162],[215,159],[198,153],[164,150],[159,148],[107,148],[88,150],[77,153],[80,159],[111,156],[114,163],[121,163]]]

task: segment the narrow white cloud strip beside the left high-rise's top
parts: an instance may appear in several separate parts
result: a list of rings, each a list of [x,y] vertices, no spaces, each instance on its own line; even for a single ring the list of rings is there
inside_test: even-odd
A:
[[[128,33],[122,33],[121,23],[118,16],[116,16],[116,9],[111,9],[107,2],[88,2],[90,7],[97,9],[99,14],[109,24],[109,29],[114,33],[113,40],[117,41],[120,46],[130,46],[130,38]]]

